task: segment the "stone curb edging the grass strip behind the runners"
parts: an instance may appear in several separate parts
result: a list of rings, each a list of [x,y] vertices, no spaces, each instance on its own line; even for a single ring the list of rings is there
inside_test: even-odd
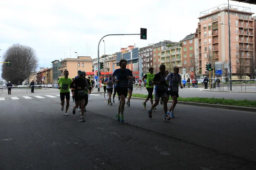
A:
[[[118,96],[116,96],[116,97],[118,97]],[[131,97],[131,99],[145,100],[145,98],[133,97],[133,96]],[[172,102],[169,101],[168,103],[172,103]],[[236,110],[236,111],[256,112],[256,108],[250,108],[250,107],[244,107],[244,106],[216,105],[216,104],[208,104],[208,103],[180,102],[180,101],[178,101],[177,104],[201,106],[201,107],[208,107],[208,108],[218,108],[218,109],[230,109],[230,110]]]

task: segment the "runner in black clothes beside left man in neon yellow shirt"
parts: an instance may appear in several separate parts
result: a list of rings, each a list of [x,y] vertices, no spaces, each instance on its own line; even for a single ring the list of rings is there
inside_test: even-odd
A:
[[[76,105],[73,107],[73,114],[76,114],[76,108],[79,107],[79,100],[81,102],[81,118],[80,122],[84,122],[84,99],[85,99],[85,94],[84,90],[87,90],[88,84],[87,82],[83,79],[84,73],[83,71],[79,72],[79,78],[75,79],[70,87],[75,88],[75,103]],[[73,86],[73,85],[76,86]]]

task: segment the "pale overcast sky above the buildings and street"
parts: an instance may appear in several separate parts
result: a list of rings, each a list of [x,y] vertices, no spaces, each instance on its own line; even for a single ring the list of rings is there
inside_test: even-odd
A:
[[[162,40],[179,42],[195,32],[200,12],[223,3],[227,0],[2,1],[0,56],[12,44],[20,43],[35,49],[38,69],[50,68],[55,59],[76,58],[75,52],[96,58],[103,36],[140,34],[140,28],[147,28],[147,40],[140,40],[140,35],[108,36],[103,39],[105,54],[134,44],[141,48]],[[249,7],[256,13],[256,5],[231,0],[230,4]],[[99,55],[103,54],[101,42]]]

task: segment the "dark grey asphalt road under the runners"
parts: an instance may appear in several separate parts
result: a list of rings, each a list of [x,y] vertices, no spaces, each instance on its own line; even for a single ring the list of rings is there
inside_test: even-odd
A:
[[[0,96],[1,169],[256,169],[255,113],[177,105],[166,122],[162,105],[150,119],[132,99],[121,123],[117,99],[109,106],[94,94],[82,123],[71,108],[64,116],[57,95]]]

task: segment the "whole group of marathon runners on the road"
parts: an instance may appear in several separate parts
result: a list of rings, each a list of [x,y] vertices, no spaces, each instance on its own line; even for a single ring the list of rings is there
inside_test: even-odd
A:
[[[119,107],[116,113],[116,118],[120,122],[124,122],[124,109],[125,109],[125,98],[128,96],[128,101],[126,105],[130,106],[130,100],[133,91],[133,85],[135,83],[134,76],[132,75],[132,71],[126,68],[127,61],[125,59],[121,59],[119,61],[119,69],[116,69],[113,74],[107,75],[102,82],[104,83],[104,99],[105,93],[107,90],[108,93],[108,105],[113,105],[115,103],[115,95],[116,93],[119,96]],[[157,109],[157,105],[159,102],[163,104],[164,110],[164,120],[170,120],[174,118],[174,108],[177,104],[177,98],[179,97],[178,88],[183,88],[181,84],[181,77],[179,74],[179,68],[175,67],[173,73],[169,73],[166,71],[165,65],[160,65],[160,72],[154,74],[154,68],[148,69],[148,74],[145,74],[143,77],[143,82],[145,81],[145,86],[148,91],[148,96],[143,102],[144,108],[146,108],[146,103],[148,100],[151,102],[151,108],[148,109],[148,117],[152,118],[152,111]],[[64,77],[60,78],[58,81],[58,88],[60,89],[61,96],[61,111],[64,110],[64,99],[66,97],[66,110],[64,115],[68,115],[67,110],[69,108],[69,100],[70,100],[70,92],[69,88],[72,91],[73,101],[75,101],[76,105],[73,107],[73,114],[76,113],[76,108],[79,108],[81,111],[80,122],[84,122],[84,112],[86,112],[86,106],[88,100],[90,100],[90,93],[92,91],[92,87],[94,82],[90,77],[86,77],[86,73],[84,71],[78,71],[78,76],[75,78],[68,78],[68,71],[64,71]],[[111,96],[113,94],[113,103],[111,102]],[[155,102],[153,103],[153,92]],[[172,97],[172,105],[169,111],[167,111],[167,103],[169,100],[169,96]],[[161,100],[160,100],[161,99]]]

